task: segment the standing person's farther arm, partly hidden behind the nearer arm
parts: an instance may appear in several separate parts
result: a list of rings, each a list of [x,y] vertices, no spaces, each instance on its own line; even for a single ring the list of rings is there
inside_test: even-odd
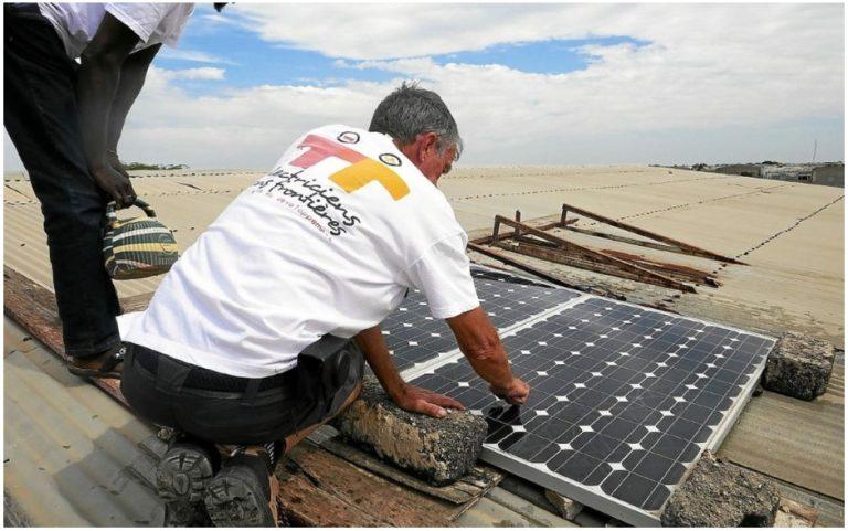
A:
[[[147,71],[150,67],[150,63],[153,61],[153,57],[156,57],[160,47],[162,47],[161,44],[156,44],[139,50],[124,60],[124,65],[120,68],[120,84],[115,94],[115,99],[112,102],[112,108],[109,109],[109,131],[106,139],[106,158],[113,169],[126,177],[129,176],[127,176],[118,159],[118,140],[120,140],[120,134],[124,131],[124,123],[127,120],[129,109],[132,107],[138,94],[141,92],[141,87],[145,86],[145,77],[147,77]]]

